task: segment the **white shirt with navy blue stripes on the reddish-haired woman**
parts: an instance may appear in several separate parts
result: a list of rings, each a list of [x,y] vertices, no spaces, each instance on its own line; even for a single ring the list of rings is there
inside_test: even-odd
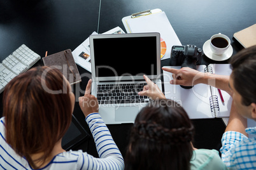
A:
[[[90,114],[85,121],[89,125],[96,143],[99,158],[82,150],[62,152],[42,169],[124,169],[124,159],[106,124],[97,113]],[[20,157],[6,143],[4,117],[0,119],[0,169],[32,169],[24,157]]]

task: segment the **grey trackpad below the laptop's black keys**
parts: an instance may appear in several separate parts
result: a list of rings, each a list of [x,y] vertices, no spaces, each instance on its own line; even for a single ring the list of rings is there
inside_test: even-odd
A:
[[[139,112],[139,107],[116,107],[115,121],[117,122],[134,122],[136,115]]]

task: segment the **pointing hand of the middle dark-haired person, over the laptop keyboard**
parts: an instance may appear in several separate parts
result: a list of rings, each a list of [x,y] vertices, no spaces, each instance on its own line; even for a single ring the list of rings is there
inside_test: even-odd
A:
[[[140,96],[148,96],[152,100],[157,100],[160,98],[166,98],[162,91],[158,88],[157,84],[153,83],[146,75],[143,75],[147,85],[143,87],[143,91],[139,91]]]

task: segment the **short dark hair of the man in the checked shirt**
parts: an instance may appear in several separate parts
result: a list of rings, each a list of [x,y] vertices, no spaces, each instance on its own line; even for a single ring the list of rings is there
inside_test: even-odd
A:
[[[239,51],[230,63],[234,88],[242,96],[243,105],[256,103],[256,46]]]

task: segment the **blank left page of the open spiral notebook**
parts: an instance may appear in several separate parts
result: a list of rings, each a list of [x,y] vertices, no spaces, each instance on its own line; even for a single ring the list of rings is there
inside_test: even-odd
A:
[[[204,72],[205,67],[205,65],[199,65],[197,66],[197,70]],[[180,69],[180,66],[169,66],[167,68]],[[163,71],[163,73],[166,98],[180,103],[190,119],[215,118],[214,113],[211,112],[211,93],[208,85],[197,84],[191,89],[184,89],[180,85],[169,83],[173,79],[170,72]]]

